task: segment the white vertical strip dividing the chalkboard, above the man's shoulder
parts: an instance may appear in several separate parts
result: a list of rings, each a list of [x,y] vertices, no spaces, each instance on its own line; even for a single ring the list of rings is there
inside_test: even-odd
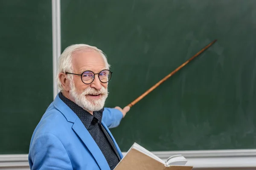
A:
[[[57,82],[55,80],[58,57],[61,55],[61,2],[52,0],[52,74],[53,74],[53,99],[58,93]]]

